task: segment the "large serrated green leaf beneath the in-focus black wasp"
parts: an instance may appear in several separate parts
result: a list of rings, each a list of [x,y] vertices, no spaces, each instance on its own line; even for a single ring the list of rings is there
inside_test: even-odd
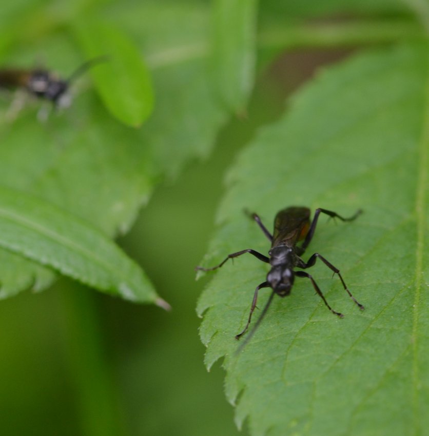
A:
[[[225,356],[226,394],[252,435],[427,434],[429,418],[429,65],[427,45],[367,52],[325,70],[262,131],[228,176],[221,225],[204,266],[269,243],[242,212],[270,228],[288,205],[324,207],[303,259],[320,252],[365,305],[361,312],[319,262],[275,299],[243,349],[253,290],[268,267],[250,255],[212,273],[198,313],[206,364]],[[270,290],[262,289],[258,307]],[[259,311],[260,313],[260,311]],[[256,311],[252,320],[258,317]],[[244,339],[244,338],[243,338]],[[242,341],[243,341],[242,339]]]

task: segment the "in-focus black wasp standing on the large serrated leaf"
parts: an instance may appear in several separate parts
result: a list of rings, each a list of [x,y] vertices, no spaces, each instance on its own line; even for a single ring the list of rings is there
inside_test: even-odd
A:
[[[334,274],[337,274],[339,276],[341,283],[350,298],[352,298],[352,300],[359,306],[361,310],[364,309],[364,307],[354,298],[352,293],[348,290],[340,274],[340,270],[336,268],[333,264],[328,262],[323,256],[321,256],[319,253],[314,253],[310,256],[307,262],[304,262],[301,259],[301,255],[305,252],[305,249],[308,247],[311,239],[313,239],[317,220],[319,219],[320,213],[325,213],[332,218],[339,218],[341,221],[353,221],[361,212],[361,210],[358,210],[353,216],[350,216],[349,218],[343,218],[336,212],[319,208],[316,209],[313,221],[311,221],[310,223],[310,209],[308,209],[307,207],[298,206],[288,207],[277,213],[276,219],[274,221],[274,234],[271,234],[267,230],[267,228],[262,224],[260,217],[256,213],[252,213],[251,217],[253,218],[253,220],[258,223],[265,236],[267,236],[267,238],[271,241],[271,249],[268,253],[269,257],[249,248],[247,250],[241,250],[237,251],[236,253],[229,254],[223,262],[212,268],[197,267],[197,269],[203,271],[212,271],[214,269],[220,268],[228,259],[233,259],[234,257],[241,256],[245,253],[250,253],[253,256],[257,257],[260,261],[269,263],[271,265],[271,269],[267,274],[266,281],[258,285],[255,290],[255,294],[253,295],[253,301],[250,307],[249,319],[243,331],[236,335],[236,339],[240,339],[249,327],[252,313],[256,308],[258,291],[261,288],[272,289],[270,298],[261,315],[261,321],[262,316],[266,312],[275,293],[277,295],[280,295],[281,297],[290,294],[290,291],[294,285],[295,277],[305,277],[309,279],[327,308],[332,313],[335,313],[336,315],[340,316],[340,318],[342,318],[342,313],[336,312],[332,307],[329,306],[322,291],[320,290],[313,277],[306,271],[294,270],[295,268],[309,268],[316,263],[316,260],[318,258],[329,269],[334,271]],[[304,240],[304,242],[300,246],[297,246],[297,243],[302,240]]]

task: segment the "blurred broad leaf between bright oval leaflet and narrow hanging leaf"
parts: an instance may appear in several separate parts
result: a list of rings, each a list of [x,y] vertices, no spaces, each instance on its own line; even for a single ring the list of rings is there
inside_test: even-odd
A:
[[[109,19],[142,47],[157,103],[141,132],[169,178],[190,158],[207,157],[229,111],[210,89],[209,4],[148,0],[113,5]],[[179,25],[178,25],[179,23]]]

